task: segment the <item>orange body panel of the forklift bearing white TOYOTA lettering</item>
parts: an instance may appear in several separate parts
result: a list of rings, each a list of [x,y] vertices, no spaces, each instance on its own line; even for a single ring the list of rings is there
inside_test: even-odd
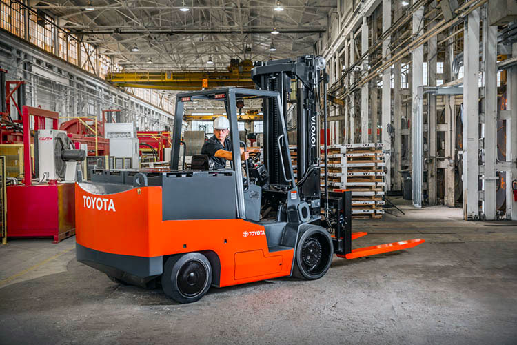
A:
[[[212,250],[221,264],[221,287],[291,273],[294,250],[270,253],[259,224],[243,219],[163,221],[159,186],[94,195],[76,184],[75,193],[76,240],[86,248],[137,257]]]

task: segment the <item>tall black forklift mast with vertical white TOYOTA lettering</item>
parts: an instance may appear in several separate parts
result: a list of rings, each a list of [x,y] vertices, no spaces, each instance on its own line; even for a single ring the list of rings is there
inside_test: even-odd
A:
[[[296,176],[301,199],[310,205],[312,215],[320,214],[320,114],[319,82],[325,69],[325,59],[306,55],[292,59],[256,62],[252,79],[261,90],[280,94],[284,122],[287,123],[287,105],[292,103],[292,83],[296,83]],[[293,102],[294,103],[294,102]],[[263,105],[264,161],[270,172],[270,184],[287,185],[281,171],[278,155],[278,137],[281,136],[280,120],[271,103]],[[289,157],[287,157],[289,159]]]

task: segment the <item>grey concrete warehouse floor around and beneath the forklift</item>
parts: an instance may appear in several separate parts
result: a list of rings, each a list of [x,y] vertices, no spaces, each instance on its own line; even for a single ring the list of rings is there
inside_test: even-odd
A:
[[[73,237],[12,240],[0,246],[0,344],[516,344],[517,222],[401,208],[354,221],[370,234],[354,245],[425,244],[183,305],[79,264]]]

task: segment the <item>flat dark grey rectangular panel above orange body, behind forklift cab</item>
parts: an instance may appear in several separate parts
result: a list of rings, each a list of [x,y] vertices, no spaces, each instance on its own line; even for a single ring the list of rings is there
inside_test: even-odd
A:
[[[163,220],[235,219],[234,172],[165,175]]]

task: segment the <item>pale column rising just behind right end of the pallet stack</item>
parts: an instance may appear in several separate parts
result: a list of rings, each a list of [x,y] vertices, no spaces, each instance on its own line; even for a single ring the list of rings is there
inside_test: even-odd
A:
[[[383,33],[392,26],[392,0],[383,0]],[[387,37],[383,41],[383,61],[387,61],[392,55],[389,51],[389,43],[391,37]],[[392,122],[392,88],[391,88],[392,69],[387,68],[383,72],[383,90],[382,90],[382,106],[381,106],[381,143],[384,144],[386,161],[386,190],[391,190],[392,186],[392,139],[389,138],[387,130],[388,125]],[[399,121],[400,123],[400,121]]]

